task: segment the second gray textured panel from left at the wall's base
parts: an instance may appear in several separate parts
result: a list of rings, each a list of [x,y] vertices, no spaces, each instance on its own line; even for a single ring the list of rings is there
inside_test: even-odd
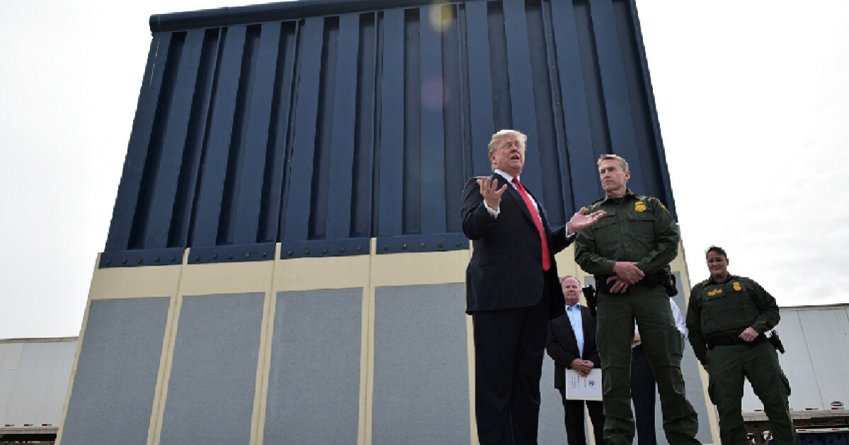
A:
[[[162,445],[250,442],[264,297],[183,297]]]

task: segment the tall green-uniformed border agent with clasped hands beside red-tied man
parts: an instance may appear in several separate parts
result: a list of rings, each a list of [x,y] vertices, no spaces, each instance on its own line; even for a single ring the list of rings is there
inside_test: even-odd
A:
[[[672,320],[664,268],[678,254],[678,227],[655,197],[627,189],[627,161],[615,154],[599,158],[599,177],[606,197],[588,211],[604,210],[595,225],[578,231],[575,260],[595,276],[604,402],[604,440],[630,445],[634,437],[631,410],[631,342],[634,321],[661,395],[666,440],[697,444],[699,419],[684,396],[681,375],[683,340]]]

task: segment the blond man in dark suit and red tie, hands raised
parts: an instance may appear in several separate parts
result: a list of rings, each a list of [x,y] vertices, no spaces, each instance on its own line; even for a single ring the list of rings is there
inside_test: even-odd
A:
[[[475,340],[475,414],[481,445],[537,443],[546,322],[563,314],[554,253],[604,213],[577,212],[551,231],[542,204],[519,181],[527,136],[492,136],[492,176],[463,191],[463,231],[474,243],[466,313]],[[572,235],[569,235],[569,234]]]

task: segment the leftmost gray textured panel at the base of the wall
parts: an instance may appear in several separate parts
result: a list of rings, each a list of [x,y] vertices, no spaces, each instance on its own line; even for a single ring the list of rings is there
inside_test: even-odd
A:
[[[147,442],[169,298],[91,303],[64,445]]]

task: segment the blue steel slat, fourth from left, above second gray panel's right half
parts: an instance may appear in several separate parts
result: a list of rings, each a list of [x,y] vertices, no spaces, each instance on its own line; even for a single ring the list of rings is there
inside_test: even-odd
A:
[[[247,135],[245,137],[245,156],[242,159],[242,173],[239,196],[235,203],[235,224],[233,243],[250,244],[257,242],[259,216],[262,196],[262,183],[266,180],[266,152],[268,130],[271,123],[274,75],[277,70],[278,45],[280,42],[280,24],[267,23],[261,27],[259,53],[255,61],[256,74],[253,81],[250,110],[246,110]]]

